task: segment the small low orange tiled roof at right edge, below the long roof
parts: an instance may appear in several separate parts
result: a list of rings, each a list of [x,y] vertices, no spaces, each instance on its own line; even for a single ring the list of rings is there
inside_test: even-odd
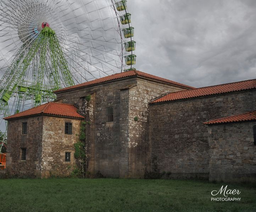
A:
[[[247,122],[247,121],[256,121],[256,111],[239,114],[236,116],[229,116],[225,118],[219,118],[205,122],[204,124],[224,124],[224,123],[233,123],[233,122]]]

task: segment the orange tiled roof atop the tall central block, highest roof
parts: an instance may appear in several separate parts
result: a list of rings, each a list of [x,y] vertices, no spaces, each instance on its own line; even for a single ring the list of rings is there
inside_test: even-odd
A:
[[[157,81],[160,81],[160,82],[169,83],[169,84],[179,86],[179,87],[183,87],[183,88],[189,88],[189,89],[194,88],[194,87],[187,86],[187,85],[184,85],[184,84],[181,84],[181,83],[178,83],[178,82],[174,82],[174,81],[171,81],[171,80],[166,80],[164,78],[157,77],[157,76],[154,76],[154,75],[151,75],[151,74],[148,74],[148,73],[144,73],[144,72],[137,71],[137,70],[132,70],[132,71],[125,71],[125,72],[122,72],[122,73],[116,73],[116,74],[113,74],[113,75],[110,75],[110,76],[107,76],[107,77],[102,77],[102,78],[92,80],[92,81],[89,81],[89,82],[84,82],[84,83],[78,84],[76,86],[71,86],[71,87],[68,87],[68,88],[62,88],[60,90],[56,90],[55,93],[63,91],[63,90],[82,88],[82,87],[91,86],[91,85],[94,85],[94,84],[99,84],[99,83],[102,83],[102,82],[108,82],[108,81],[111,81],[111,80],[116,80],[116,79],[121,79],[121,78],[125,78],[125,77],[131,77],[131,76],[145,77],[145,78],[149,78],[149,79],[152,79],[152,80],[157,80]]]

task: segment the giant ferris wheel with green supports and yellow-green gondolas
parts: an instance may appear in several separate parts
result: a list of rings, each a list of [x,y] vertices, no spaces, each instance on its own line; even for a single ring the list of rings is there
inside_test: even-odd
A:
[[[54,90],[133,69],[133,37],[126,0],[0,1],[0,130]]]

